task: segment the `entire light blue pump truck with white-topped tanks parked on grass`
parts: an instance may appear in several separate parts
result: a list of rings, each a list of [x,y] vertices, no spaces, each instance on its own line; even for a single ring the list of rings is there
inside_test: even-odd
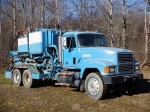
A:
[[[13,42],[18,39],[18,50],[12,50],[12,44],[10,66],[5,69],[5,77],[15,86],[32,88],[36,81],[51,80],[56,86],[75,86],[99,100],[114,87],[133,94],[137,80],[143,78],[132,51],[108,47],[102,33],[25,31],[21,37],[18,31]]]

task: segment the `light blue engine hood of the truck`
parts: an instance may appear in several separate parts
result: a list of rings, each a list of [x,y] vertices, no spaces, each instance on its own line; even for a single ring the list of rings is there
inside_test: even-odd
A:
[[[131,54],[132,52],[122,48],[111,48],[111,47],[88,47],[79,48],[79,58],[81,59],[92,59],[92,60],[109,60],[115,65],[117,63],[118,54]]]

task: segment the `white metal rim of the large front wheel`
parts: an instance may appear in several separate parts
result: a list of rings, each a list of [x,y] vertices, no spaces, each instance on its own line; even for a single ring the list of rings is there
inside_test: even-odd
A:
[[[96,95],[99,92],[99,83],[95,78],[91,78],[88,81],[88,90],[92,95]]]

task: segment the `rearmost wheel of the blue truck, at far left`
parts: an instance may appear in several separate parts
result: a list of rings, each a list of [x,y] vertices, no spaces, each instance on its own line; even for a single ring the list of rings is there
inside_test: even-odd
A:
[[[15,69],[13,71],[12,80],[13,80],[13,84],[15,86],[21,86],[22,85],[21,76],[22,76],[22,71],[21,70]]]

